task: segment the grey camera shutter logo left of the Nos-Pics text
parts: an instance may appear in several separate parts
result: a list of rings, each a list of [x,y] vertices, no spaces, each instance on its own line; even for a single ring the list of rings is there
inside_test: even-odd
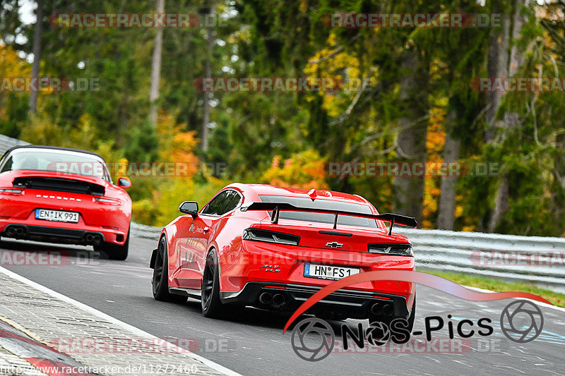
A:
[[[297,356],[309,362],[317,362],[330,355],[335,345],[335,334],[327,322],[311,317],[302,320],[292,329],[290,341]]]

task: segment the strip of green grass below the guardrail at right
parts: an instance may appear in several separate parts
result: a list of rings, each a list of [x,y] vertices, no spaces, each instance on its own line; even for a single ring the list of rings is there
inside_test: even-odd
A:
[[[547,299],[553,305],[565,308],[565,294],[555,293],[546,289],[540,289],[540,287],[534,286],[533,284],[521,284],[514,282],[503,282],[496,279],[489,279],[484,277],[477,277],[474,275],[460,274],[460,273],[450,273],[450,272],[434,272],[426,271],[427,273],[434,274],[438,277],[449,279],[450,281],[456,282],[458,284],[463,284],[465,286],[477,287],[479,289],[492,290],[499,293],[505,293],[509,291],[521,291],[523,293],[533,293],[537,296]]]

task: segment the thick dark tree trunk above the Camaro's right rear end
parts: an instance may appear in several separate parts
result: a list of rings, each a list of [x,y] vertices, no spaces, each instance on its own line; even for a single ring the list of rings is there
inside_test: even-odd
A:
[[[427,86],[429,62],[420,59],[417,49],[405,52],[401,64],[400,100],[405,116],[398,119],[398,162],[426,162]],[[398,214],[422,222],[424,176],[396,176],[393,184],[393,207]]]

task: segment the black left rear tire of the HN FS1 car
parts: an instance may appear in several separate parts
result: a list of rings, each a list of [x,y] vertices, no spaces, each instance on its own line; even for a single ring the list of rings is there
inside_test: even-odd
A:
[[[201,305],[204,317],[222,318],[225,316],[225,305],[220,300],[218,257],[214,251],[208,253],[206,257],[206,266],[202,276]]]

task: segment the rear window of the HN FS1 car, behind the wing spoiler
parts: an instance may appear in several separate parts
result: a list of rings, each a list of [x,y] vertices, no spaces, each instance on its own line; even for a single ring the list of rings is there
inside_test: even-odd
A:
[[[339,202],[339,201],[323,200],[323,199],[317,199],[312,201],[309,198],[295,198],[295,197],[271,196],[271,195],[259,195],[259,198],[261,198],[262,202],[288,203],[297,207],[306,207],[308,209],[339,210],[342,212],[373,214],[369,206],[354,204],[352,202]],[[279,218],[292,219],[295,221],[333,224],[335,215],[326,214],[326,213],[292,212],[287,210],[281,210],[279,213]],[[375,219],[351,217],[349,215],[338,216],[338,224],[345,226],[359,226],[359,227],[371,227],[371,228],[378,227]]]

